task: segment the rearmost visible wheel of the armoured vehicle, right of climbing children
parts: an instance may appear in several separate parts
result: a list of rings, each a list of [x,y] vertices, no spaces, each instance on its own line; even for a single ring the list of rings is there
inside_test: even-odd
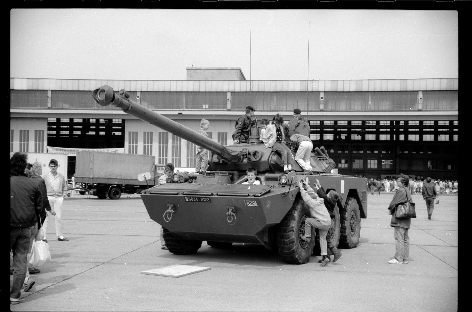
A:
[[[353,197],[346,198],[341,215],[341,236],[339,244],[341,248],[355,248],[361,237],[361,212],[359,205]]]

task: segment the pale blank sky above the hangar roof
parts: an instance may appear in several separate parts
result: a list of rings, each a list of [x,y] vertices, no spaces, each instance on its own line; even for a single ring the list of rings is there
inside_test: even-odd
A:
[[[11,78],[185,80],[192,65],[240,67],[247,80],[306,80],[308,66],[310,80],[458,78],[454,10],[12,9],[10,18]]]

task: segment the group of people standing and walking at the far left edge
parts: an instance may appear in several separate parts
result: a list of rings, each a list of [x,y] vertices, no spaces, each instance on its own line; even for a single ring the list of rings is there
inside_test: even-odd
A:
[[[30,164],[28,155],[16,152],[10,158],[10,304],[18,304],[21,290],[29,291],[35,281],[30,274],[39,273],[29,268],[31,250],[36,233],[42,231],[45,243],[49,214],[55,216],[56,235],[59,241],[68,241],[62,235],[62,203],[67,183],[57,172],[58,161],[51,159],[50,172],[42,175],[39,161]]]

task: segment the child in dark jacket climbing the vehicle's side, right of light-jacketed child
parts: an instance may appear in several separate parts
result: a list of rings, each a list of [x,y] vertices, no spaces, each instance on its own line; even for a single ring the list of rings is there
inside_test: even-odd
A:
[[[337,250],[337,246],[334,245],[334,225],[335,225],[335,217],[336,215],[334,214],[334,208],[337,205],[339,209],[343,208],[343,204],[341,203],[341,200],[339,199],[339,194],[331,190],[326,194],[324,188],[320,184],[320,180],[316,179],[316,183],[313,184],[315,186],[316,193],[318,194],[319,197],[321,197],[324,200],[324,204],[326,209],[328,209],[329,216],[331,217],[331,226],[329,226],[328,234],[326,235],[326,244],[331,251],[331,253],[334,255],[333,262],[336,262],[337,259],[339,259],[342,254],[339,250]],[[331,261],[331,258],[329,256],[323,256],[321,260],[318,262],[322,262],[324,259],[328,258],[328,262]]]

